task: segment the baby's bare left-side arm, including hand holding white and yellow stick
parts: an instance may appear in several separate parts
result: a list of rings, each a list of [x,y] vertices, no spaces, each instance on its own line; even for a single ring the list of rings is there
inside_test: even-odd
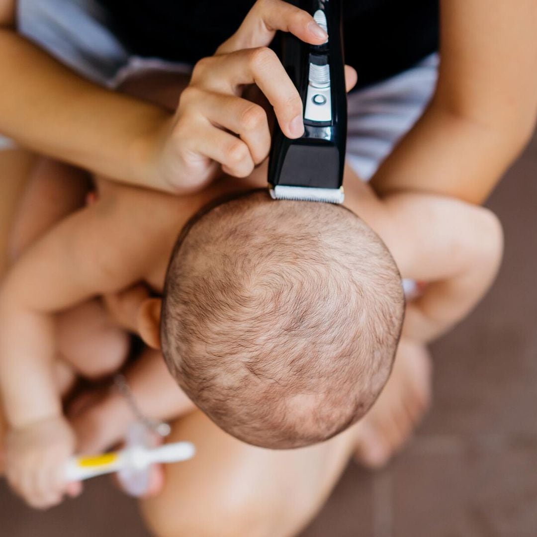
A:
[[[74,449],[53,376],[54,313],[143,277],[147,251],[124,226],[134,228],[132,217],[113,207],[82,209],[28,248],[3,281],[0,388],[10,427],[8,478],[35,506],[59,502],[66,490],[61,466]]]

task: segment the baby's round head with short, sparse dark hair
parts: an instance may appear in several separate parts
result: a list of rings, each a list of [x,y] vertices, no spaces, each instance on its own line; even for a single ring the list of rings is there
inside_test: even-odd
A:
[[[322,441],[356,422],[388,379],[400,275],[347,209],[255,191],[194,217],[170,260],[161,341],[192,401],[269,448]]]

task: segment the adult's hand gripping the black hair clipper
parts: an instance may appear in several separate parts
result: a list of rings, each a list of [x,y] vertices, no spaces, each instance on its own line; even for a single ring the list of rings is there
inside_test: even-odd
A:
[[[194,67],[176,114],[158,148],[160,170],[170,182],[200,187],[221,168],[248,176],[269,154],[271,136],[264,108],[243,98],[256,84],[274,108],[281,132],[295,139],[304,132],[302,99],[273,50],[275,32],[289,32],[310,45],[328,34],[313,16],[282,0],[259,0],[237,32],[211,57]],[[347,90],[356,81],[346,67]]]

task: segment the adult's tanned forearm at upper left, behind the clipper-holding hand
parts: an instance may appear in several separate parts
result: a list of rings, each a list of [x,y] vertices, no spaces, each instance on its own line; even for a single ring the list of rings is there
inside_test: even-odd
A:
[[[144,142],[168,112],[86,81],[5,28],[0,79],[0,132],[108,177],[151,182]]]

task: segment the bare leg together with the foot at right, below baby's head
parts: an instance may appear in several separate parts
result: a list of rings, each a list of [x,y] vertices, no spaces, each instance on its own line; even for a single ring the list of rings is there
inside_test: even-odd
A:
[[[178,420],[170,441],[197,454],[164,467],[164,488],[141,503],[158,537],[295,535],[323,505],[353,451],[369,466],[386,462],[423,416],[430,396],[429,356],[402,340],[378,401],[351,429],[322,444],[272,451],[221,431],[197,411]]]

